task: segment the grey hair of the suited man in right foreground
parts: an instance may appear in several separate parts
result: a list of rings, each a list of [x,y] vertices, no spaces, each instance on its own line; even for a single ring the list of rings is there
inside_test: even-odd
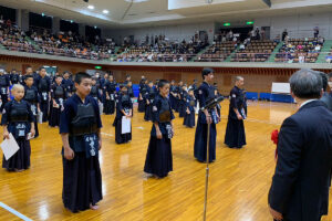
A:
[[[313,70],[295,72],[289,83],[292,93],[299,98],[319,98],[323,88],[322,77]]]

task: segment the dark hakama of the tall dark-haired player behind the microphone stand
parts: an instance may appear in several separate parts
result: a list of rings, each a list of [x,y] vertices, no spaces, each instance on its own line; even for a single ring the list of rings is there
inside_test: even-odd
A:
[[[200,112],[199,115],[200,116],[198,116],[196,134],[195,134],[194,156],[198,161],[204,162],[206,161],[208,124],[200,123],[199,119],[201,117],[205,117],[205,114]],[[210,126],[209,162],[216,160],[216,137],[217,137],[216,124],[212,123]]]

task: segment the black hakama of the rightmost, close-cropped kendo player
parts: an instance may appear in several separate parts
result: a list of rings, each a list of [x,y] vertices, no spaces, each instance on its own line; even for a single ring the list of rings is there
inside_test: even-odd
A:
[[[225,144],[230,148],[241,148],[246,145],[243,120],[228,118]]]

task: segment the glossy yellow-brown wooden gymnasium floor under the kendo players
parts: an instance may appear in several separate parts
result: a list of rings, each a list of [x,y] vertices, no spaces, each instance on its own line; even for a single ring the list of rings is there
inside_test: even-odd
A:
[[[291,104],[249,103],[248,145],[229,149],[224,145],[228,101],[222,103],[217,160],[210,165],[207,220],[271,220],[267,194],[274,170],[274,145],[270,134],[294,110],[295,105]],[[58,128],[45,124],[40,126],[41,136],[31,144],[31,168],[20,173],[0,170],[0,201],[32,220],[203,220],[206,166],[193,157],[195,128],[185,128],[183,118],[175,119],[174,171],[162,180],[146,179],[143,166],[152,123],[135,112],[133,140],[115,145],[113,118],[103,115],[100,160],[104,200],[97,211],[73,214],[63,208],[61,139]],[[0,220],[20,219],[0,208]],[[323,220],[332,220],[332,214]]]

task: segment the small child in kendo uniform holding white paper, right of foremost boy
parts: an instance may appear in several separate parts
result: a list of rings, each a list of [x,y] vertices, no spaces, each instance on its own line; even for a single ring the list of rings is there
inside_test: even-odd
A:
[[[131,96],[128,95],[127,86],[121,85],[120,90],[121,93],[118,95],[115,116],[115,141],[116,144],[125,144],[132,140],[132,130],[131,133],[122,134],[122,118],[133,117],[133,103]]]

